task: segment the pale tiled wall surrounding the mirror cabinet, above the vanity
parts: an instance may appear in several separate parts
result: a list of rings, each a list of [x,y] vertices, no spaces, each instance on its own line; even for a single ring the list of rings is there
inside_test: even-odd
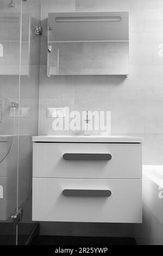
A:
[[[144,164],[163,164],[163,2],[161,0],[42,0],[48,12],[129,11],[130,75],[46,76],[46,32],[41,38],[39,134],[54,135],[47,107],[111,111],[112,135],[145,139]],[[45,31],[45,30],[44,30]]]

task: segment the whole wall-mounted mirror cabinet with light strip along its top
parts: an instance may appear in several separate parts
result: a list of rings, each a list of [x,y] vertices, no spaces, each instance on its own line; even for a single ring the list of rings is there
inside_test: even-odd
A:
[[[48,14],[48,76],[128,74],[128,12]]]

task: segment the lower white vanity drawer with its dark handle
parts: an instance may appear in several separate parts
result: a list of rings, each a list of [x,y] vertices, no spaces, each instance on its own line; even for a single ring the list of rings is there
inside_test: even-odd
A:
[[[141,223],[142,181],[33,178],[33,221]]]

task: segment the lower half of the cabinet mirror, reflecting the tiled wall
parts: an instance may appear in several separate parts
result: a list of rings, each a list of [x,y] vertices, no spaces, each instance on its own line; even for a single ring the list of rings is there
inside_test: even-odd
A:
[[[129,41],[49,42],[48,76],[128,75]]]

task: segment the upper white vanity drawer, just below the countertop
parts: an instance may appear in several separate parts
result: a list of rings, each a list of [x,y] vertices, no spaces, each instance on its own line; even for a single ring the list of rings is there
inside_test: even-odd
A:
[[[141,179],[140,143],[33,143],[33,176]]]

